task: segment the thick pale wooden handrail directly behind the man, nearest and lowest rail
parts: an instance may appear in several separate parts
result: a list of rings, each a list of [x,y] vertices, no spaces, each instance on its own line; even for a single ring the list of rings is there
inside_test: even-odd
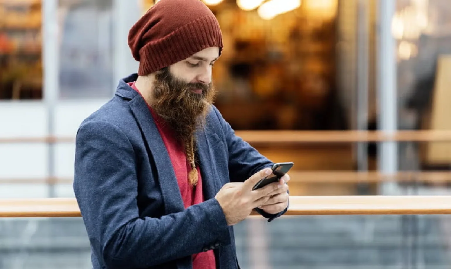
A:
[[[451,214],[451,196],[291,196],[286,213],[348,214]],[[80,216],[74,198],[0,199],[0,218]]]

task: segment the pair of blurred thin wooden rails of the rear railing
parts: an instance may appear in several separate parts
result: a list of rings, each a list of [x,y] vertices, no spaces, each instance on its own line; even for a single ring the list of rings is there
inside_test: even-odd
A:
[[[346,142],[451,142],[451,131],[236,131],[250,144],[278,143],[346,143]],[[74,137],[12,137],[0,138],[5,143],[74,143]],[[383,181],[421,181],[428,183],[451,182],[451,172],[446,171],[403,171],[383,174],[376,171],[291,171],[293,182],[383,182]],[[0,184],[71,184],[72,178],[0,178]]]

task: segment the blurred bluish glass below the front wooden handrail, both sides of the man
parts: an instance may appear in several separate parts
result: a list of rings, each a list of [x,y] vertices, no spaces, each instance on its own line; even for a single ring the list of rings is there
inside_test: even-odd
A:
[[[445,269],[450,217],[285,216],[235,225],[241,268]],[[1,269],[90,269],[81,218],[0,219]]]

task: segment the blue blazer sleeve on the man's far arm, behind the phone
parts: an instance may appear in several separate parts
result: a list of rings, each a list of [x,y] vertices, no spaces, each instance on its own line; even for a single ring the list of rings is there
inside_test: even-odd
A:
[[[216,107],[212,107],[216,113],[221,128],[224,131],[226,137],[227,150],[229,152],[229,174],[231,182],[244,182],[254,173],[265,169],[267,167],[272,167],[274,164],[272,161],[268,160],[265,156],[261,155],[255,148],[249,145],[248,142],[244,141],[241,137],[235,135],[235,131],[232,129],[230,124],[222,117]],[[285,210],[277,214],[268,214],[264,210],[255,208],[258,214],[268,219],[271,222],[273,219],[285,214],[290,206],[290,201],[288,201],[288,206]]]

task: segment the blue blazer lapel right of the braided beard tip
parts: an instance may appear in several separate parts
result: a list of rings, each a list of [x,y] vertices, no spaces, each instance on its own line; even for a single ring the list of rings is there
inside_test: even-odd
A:
[[[202,186],[204,199],[208,200],[216,195],[218,187],[217,173],[212,165],[212,153],[210,141],[208,141],[205,130],[198,130],[196,134],[196,143],[198,147],[198,158],[200,163],[200,171],[202,176]]]

